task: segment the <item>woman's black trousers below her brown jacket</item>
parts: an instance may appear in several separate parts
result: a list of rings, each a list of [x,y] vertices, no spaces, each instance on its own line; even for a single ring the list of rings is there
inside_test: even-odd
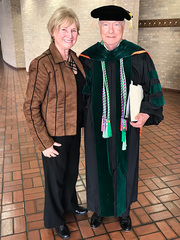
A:
[[[57,157],[42,154],[45,176],[44,225],[54,228],[64,224],[64,215],[77,206],[76,181],[78,177],[81,130],[75,136],[53,137],[62,146],[55,147]]]

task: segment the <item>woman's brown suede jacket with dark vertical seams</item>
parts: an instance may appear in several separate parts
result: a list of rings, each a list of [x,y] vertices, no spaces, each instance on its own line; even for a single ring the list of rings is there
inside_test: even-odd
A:
[[[70,54],[85,77],[75,52]],[[23,110],[40,151],[53,145],[51,136],[76,135],[76,79],[54,43],[30,64]]]

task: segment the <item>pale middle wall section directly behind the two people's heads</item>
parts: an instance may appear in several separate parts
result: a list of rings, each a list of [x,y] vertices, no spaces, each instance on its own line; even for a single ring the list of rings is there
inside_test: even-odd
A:
[[[133,30],[129,30],[128,23],[125,37],[130,41],[137,42],[139,0],[126,0],[126,4],[123,4],[124,1],[122,0],[21,0],[26,69],[28,69],[29,63],[34,57],[48,48],[50,36],[46,25],[50,16],[58,7],[71,7],[79,17],[81,24],[80,36],[73,48],[79,54],[100,40],[98,21],[91,18],[91,10],[102,5],[116,3],[125,8],[127,7],[135,14]]]

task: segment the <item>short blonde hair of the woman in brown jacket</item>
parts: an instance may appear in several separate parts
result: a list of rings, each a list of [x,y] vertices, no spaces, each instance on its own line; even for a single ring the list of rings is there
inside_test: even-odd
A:
[[[53,13],[47,24],[47,29],[51,37],[53,31],[58,29],[65,21],[67,21],[67,27],[75,22],[79,34],[80,23],[75,12],[71,8],[60,7]]]

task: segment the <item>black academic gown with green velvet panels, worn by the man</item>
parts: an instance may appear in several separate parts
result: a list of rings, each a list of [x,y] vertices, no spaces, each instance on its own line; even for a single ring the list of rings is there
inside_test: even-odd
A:
[[[141,47],[122,40],[113,51],[96,43],[80,55],[86,72],[84,94],[85,158],[87,207],[101,216],[120,216],[137,200],[139,128],[127,124],[127,149],[122,150],[120,59],[123,58],[127,94],[131,80],[144,90],[142,113],[149,114],[146,125],[159,124],[164,98],[157,72],[149,54]],[[101,61],[105,61],[110,94],[112,137],[103,138]]]

